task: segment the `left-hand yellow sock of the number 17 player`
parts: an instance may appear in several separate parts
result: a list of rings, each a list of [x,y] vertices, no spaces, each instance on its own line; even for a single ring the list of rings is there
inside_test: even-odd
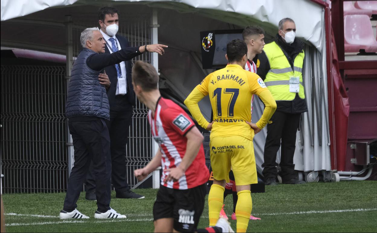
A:
[[[210,226],[215,226],[219,220],[222,203],[224,202],[225,188],[221,185],[211,185],[210,193],[208,194],[208,217],[210,219]]]

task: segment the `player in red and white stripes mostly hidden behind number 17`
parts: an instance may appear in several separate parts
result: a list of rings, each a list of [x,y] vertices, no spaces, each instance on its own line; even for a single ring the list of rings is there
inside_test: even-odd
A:
[[[253,59],[256,57],[257,54],[262,53],[262,49],[264,48],[264,30],[258,26],[247,26],[244,31],[242,32],[242,37],[244,39],[244,42],[247,45],[247,62],[245,65],[245,70],[257,73],[257,66],[259,66],[258,62],[257,65],[253,62]],[[253,113],[253,101],[254,101],[254,95],[251,97],[251,113]],[[251,114],[251,116],[253,116]],[[250,119],[251,122],[251,119]],[[229,177],[233,177],[233,172],[230,171]],[[231,215],[232,220],[236,220],[236,203],[238,200],[237,197],[237,191],[235,190],[235,182],[234,180],[230,179],[230,183],[227,184],[225,187],[224,192],[224,199],[225,197],[232,193],[233,194],[233,214]],[[225,214],[224,211],[224,205],[223,208],[220,211],[220,216],[223,218],[228,219],[228,216]],[[252,220],[261,220],[260,218],[256,218],[252,215],[250,215],[250,219]]]

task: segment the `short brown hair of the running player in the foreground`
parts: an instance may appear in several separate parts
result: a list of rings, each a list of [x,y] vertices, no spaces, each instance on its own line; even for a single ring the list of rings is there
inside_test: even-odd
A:
[[[141,86],[144,91],[158,89],[158,74],[149,63],[136,61],[132,68],[132,81]]]

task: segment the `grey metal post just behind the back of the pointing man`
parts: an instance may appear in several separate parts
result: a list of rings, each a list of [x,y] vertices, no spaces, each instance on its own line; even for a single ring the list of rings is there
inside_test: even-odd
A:
[[[73,58],[73,22],[72,16],[66,15],[65,20],[66,25],[66,81],[67,81],[67,91],[68,91],[68,83],[70,78],[70,72],[72,69],[72,58]],[[68,125],[67,125],[68,127]],[[74,159],[74,147],[73,147],[73,140],[72,135],[69,133],[69,128],[67,128],[67,152],[68,152],[68,176],[70,175],[70,171],[72,170],[73,164],[75,162]]]

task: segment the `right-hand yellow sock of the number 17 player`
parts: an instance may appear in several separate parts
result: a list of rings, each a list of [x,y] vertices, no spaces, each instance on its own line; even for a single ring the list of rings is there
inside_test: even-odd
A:
[[[237,193],[238,201],[236,205],[237,232],[246,232],[249,224],[253,201],[251,200],[251,191],[242,190]]]

